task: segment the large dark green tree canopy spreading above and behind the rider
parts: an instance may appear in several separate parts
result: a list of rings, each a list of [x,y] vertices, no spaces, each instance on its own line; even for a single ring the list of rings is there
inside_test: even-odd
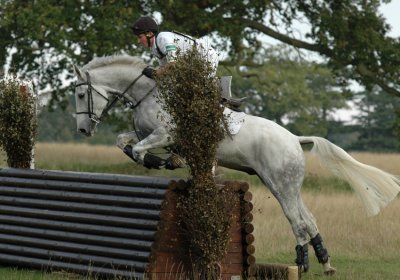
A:
[[[265,50],[260,35],[266,35],[322,55],[345,79],[400,97],[400,40],[387,36],[390,27],[378,12],[387,2],[0,0],[0,64],[13,53],[14,72],[60,90],[61,73],[68,69],[64,78],[72,76],[71,63],[121,50],[140,53],[129,27],[139,15],[159,12],[163,30],[219,35],[229,51],[225,64],[255,66],[254,55]],[[293,35],[299,20],[310,26],[305,40]]]

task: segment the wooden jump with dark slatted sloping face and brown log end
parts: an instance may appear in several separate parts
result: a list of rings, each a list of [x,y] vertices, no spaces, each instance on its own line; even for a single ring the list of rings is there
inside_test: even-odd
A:
[[[185,279],[191,264],[175,207],[185,184],[179,178],[0,169],[0,264],[111,279]],[[299,279],[295,266],[256,263],[249,185],[224,185],[235,201],[221,279]]]

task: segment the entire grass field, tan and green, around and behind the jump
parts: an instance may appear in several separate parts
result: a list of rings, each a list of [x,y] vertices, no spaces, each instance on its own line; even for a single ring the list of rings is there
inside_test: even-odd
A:
[[[393,174],[400,174],[399,154],[354,153],[356,159]],[[375,217],[367,217],[349,186],[324,170],[308,153],[303,199],[317,219],[321,235],[337,269],[334,279],[400,279],[400,200],[395,199]],[[6,167],[4,154],[0,167]],[[39,143],[36,168],[53,170],[122,173],[149,176],[187,177],[187,170],[147,170],[137,166],[118,148],[72,144]],[[257,177],[220,170],[225,179],[245,180],[253,192],[258,262],[294,264],[295,241],[277,201]],[[311,270],[302,279],[324,279],[322,267],[310,248]],[[65,273],[0,268],[0,279],[65,280],[88,279]]]

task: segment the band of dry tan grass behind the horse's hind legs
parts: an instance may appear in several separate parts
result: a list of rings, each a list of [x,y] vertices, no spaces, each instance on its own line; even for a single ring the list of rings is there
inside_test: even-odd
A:
[[[279,254],[290,252],[294,256],[296,242],[277,200],[264,188],[252,191],[257,257],[273,261]],[[400,256],[400,198],[374,217],[367,217],[362,203],[351,193],[306,192],[303,199],[332,255]]]

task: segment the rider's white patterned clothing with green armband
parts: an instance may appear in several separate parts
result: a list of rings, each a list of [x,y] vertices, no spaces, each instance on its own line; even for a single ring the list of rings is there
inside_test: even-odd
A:
[[[216,72],[218,67],[218,54],[206,40],[195,39],[188,35],[175,32],[160,32],[155,40],[151,53],[158,58],[160,66],[176,60],[177,51],[186,52],[196,44],[200,54],[211,62]]]

